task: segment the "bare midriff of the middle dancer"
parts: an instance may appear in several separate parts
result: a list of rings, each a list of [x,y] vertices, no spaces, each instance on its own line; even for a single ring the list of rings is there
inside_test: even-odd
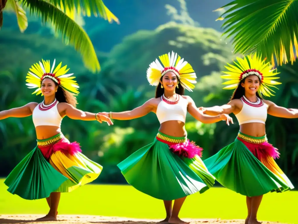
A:
[[[173,137],[184,137],[187,135],[184,125],[182,121],[165,121],[160,124],[158,131]]]

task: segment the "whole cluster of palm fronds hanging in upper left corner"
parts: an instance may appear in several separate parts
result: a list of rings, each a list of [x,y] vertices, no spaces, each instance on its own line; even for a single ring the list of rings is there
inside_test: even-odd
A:
[[[100,70],[96,52],[88,34],[80,27],[75,18],[82,13],[86,16],[101,16],[109,22],[119,22],[118,18],[105,6],[102,0],[60,1],[60,0],[0,0],[0,28],[3,23],[3,10],[14,11],[18,26],[24,32],[28,26],[26,10],[50,24],[59,33],[63,42],[80,52],[84,65],[92,72]]]

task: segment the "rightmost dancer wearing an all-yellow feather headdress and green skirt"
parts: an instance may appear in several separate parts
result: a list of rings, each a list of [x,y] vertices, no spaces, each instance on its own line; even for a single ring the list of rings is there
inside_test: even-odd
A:
[[[261,95],[274,96],[271,88],[281,84],[274,81],[276,70],[256,54],[237,58],[234,65],[226,66],[229,79],[224,89],[235,89],[226,105],[200,108],[205,114],[234,113],[240,130],[235,141],[217,154],[204,160],[209,172],[224,187],[246,196],[248,215],[246,224],[257,224],[257,211],[263,194],[293,189],[274,159],[277,148],[268,143],[265,131],[267,114],[283,118],[298,118],[297,109],[286,109],[262,99]],[[276,87],[275,87],[276,88]]]

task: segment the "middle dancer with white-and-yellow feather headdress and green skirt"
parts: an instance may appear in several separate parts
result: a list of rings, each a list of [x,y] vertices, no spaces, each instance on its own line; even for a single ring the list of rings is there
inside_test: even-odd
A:
[[[137,190],[164,201],[166,219],[163,222],[183,224],[178,217],[187,195],[203,193],[213,186],[215,178],[201,160],[202,148],[187,139],[187,111],[203,123],[215,123],[232,118],[226,114],[204,115],[184,88],[192,91],[196,75],[191,65],[172,52],[159,56],[150,64],[147,79],[157,86],[155,98],[131,111],[101,113],[116,120],[136,119],[153,112],[160,122],[154,141],[134,152],[118,164],[129,184]],[[172,200],[175,200],[172,207]]]

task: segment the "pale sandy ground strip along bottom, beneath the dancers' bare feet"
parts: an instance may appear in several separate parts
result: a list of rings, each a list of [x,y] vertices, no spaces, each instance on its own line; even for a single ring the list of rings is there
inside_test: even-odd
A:
[[[36,218],[41,215],[1,215],[0,223],[38,223],[38,224],[155,224],[160,220],[146,220],[146,219],[130,219],[121,217],[104,217],[104,216],[91,216],[91,215],[58,215],[58,221],[55,222],[35,222]],[[184,219],[184,221],[195,223],[225,223],[225,224],[244,224],[244,220],[220,220],[220,219]],[[278,223],[278,222],[277,222]],[[263,224],[277,224],[274,222],[263,221]],[[285,223],[278,223],[285,224]]]

